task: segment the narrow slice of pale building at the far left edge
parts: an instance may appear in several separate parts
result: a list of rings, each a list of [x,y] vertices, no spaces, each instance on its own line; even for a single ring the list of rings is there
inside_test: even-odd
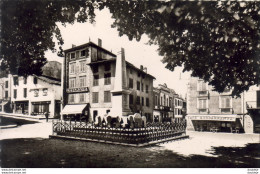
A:
[[[11,75],[0,78],[0,112],[11,112]]]

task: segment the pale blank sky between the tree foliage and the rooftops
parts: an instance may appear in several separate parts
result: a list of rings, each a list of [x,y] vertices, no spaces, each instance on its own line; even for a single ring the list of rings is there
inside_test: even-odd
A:
[[[190,73],[182,73],[182,67],[175,68],[174,72],[166,69],[166,64],[161,62],[163,57],[158,54],[158,46],[146,44],[149,40],[146,35],[143,35],[139,42],[135,39],[130,41],[126,35],[120,37],[117,29],[111,28],[113,23],[111,16],[108,9],[103,9],[102,11],[96,11],[96,22],[94,24],[75,22],[73,25],[67,25],[66,27],[59,24],[64,39],[63,49],[71,48],[72,44],[85,44],[89,40],[97,44],[98,38],[100,38],[103,48],[109,51],[112,50],[116,55],[121,48],[124,48],[127,61],[136,67],[140,67],[140,65],[147,67],[147,72],[156,78],[154,87],[166,83],[169,88],[174,89],[185,98]],[[63,60],[56,53],[50,51],[46,52],[45,55],[49,61],[62,62]]]

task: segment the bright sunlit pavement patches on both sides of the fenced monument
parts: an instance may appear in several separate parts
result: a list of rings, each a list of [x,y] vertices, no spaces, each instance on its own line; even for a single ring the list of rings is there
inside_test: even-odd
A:
[[[11,116],[10,116],[11,117]],[[21,119],[21,118],[20,118]],[[33,120],[31,118],[23,118]],[[0,140],[15,138],[49,138],[52,134],[52,121],[38,120],[35,124],[0,129]],[[260,143],[260,134],[235,134],[213,132],[187,132],[189,139],[167,142],[149,147],[152,151],[169,150],[184,156],[211,154],[212,147],[245,147],[249,143]]]

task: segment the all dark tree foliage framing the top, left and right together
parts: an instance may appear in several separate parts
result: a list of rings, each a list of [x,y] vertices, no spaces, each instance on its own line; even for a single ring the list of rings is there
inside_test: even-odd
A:
[[[159,46],[166,68],[184,66],[218,92],[240,95],[259,84],[260,2],[223,1],[4,1],[1,68],[39,72],[44,51],[63,44],[56,22],[93,22],[94,9],[109,8],[119,36]],[[62,55],[60,47],[59,55]]]

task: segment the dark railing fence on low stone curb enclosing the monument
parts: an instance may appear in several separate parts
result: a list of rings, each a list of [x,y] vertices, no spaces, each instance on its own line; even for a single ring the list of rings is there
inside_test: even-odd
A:
[[[188,138],[186,122],[147,123],[146,127],[95,126],[85,122],[53,122],[51,138],[120,144],[127,146],[149,146],[167,141]]]

